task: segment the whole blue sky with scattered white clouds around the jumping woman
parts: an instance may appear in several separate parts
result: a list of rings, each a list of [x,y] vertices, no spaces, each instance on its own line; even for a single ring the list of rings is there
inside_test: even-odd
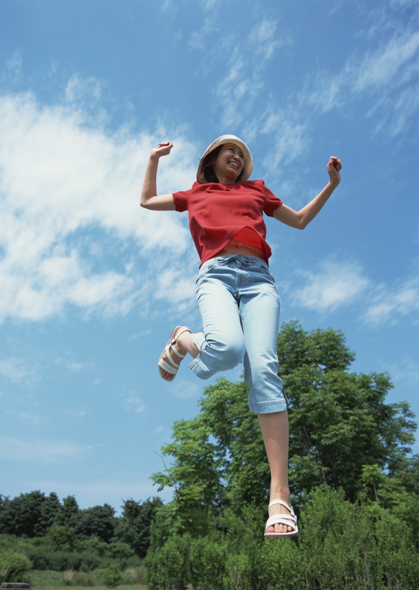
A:
[[[139,207],[162,140],[160,193],[234,133],[293,208],[341,158],[305,231],[267,219],[281,322],[343,330],[353,370],[388,371],[388,402],[419,415],[418,17],[413,0],[0,0],[1,494],[155,495],[173,422],[215,381],[157,371],[172,328],[200,323],[187,215]]]

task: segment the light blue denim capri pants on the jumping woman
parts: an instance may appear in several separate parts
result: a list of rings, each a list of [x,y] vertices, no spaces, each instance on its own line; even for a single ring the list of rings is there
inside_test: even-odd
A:
[[[264,260],[234,254],[202,264],[196,289],[204,336],[189,368],[201,379],[244,360],[248,405],[257,414],[287,408],[276,352],[280,299]]]

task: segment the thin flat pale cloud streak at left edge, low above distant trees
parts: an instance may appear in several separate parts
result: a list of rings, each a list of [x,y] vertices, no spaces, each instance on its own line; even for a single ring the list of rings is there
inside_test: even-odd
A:
[[[66,441],[45,441],[39,438],[24,441],[0,435],[0,457],[11,461],[57,463],[80,457],[90,449],[89,445],[81,446]]]

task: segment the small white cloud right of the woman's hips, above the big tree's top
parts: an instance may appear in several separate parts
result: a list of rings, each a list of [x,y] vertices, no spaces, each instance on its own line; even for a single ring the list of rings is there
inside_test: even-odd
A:
[[[369,286],[369,280],[353,262],[323,262],[317,273],[300,271],[306,285],[294,293],[294,301],[316,312],[334,312],[355,301]]]

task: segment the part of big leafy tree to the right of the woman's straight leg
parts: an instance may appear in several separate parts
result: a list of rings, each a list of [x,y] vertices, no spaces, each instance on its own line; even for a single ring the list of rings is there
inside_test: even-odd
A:
[[[348,371],[355,354],[340,330],[305,332],[285,324],[278,336],[279,374],[290,401],[292,491],[322,483],[355,500],[364,465],[389,476],[408,471],[416,424],[407,402],[386,404],[387,373]]]

